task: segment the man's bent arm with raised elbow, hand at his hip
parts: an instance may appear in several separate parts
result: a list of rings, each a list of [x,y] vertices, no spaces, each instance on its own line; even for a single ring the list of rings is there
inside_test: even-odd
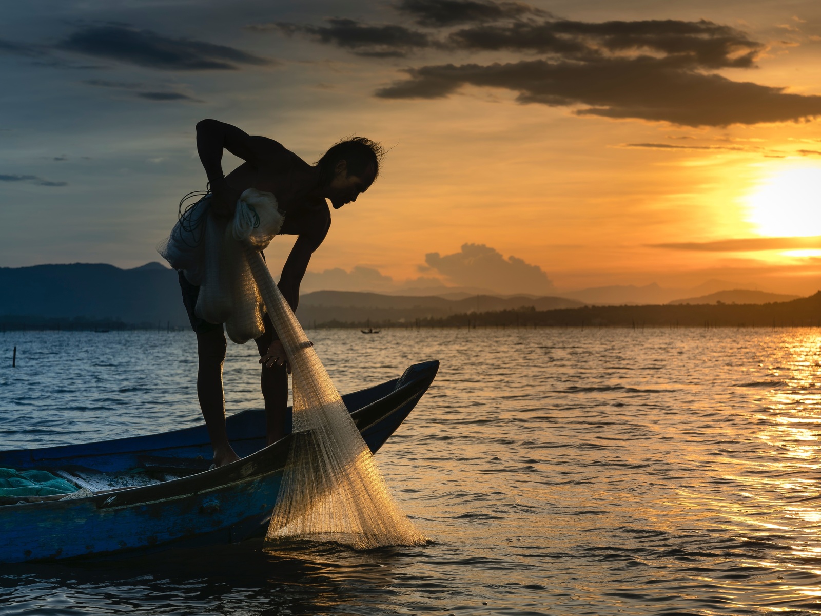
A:
[[[217,120],[197,122],[197,154],[211,185],[214,211],[231,216],[240,191],[228,185],[222,172],[223,149],[255,168],[271,172],[287,165],[288,157],[287,150],[273,139],[250,136],[236,126]]]

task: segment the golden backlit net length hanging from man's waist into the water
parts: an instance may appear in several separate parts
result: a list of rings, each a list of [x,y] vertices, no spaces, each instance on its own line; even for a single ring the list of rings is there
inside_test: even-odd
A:
[[[357,549],[424,544],[259,252],[248,247],[245,255],[291,364],[294,395],[294,434],[268,539],[330,539]]]

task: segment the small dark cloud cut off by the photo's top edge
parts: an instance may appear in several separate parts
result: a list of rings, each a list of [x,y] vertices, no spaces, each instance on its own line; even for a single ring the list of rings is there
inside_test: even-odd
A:
[[[413,16],[417,24],[431,27],[546,14],[525,2],[475,2],[475,0],[401,0],[397,4],[397,9]]]

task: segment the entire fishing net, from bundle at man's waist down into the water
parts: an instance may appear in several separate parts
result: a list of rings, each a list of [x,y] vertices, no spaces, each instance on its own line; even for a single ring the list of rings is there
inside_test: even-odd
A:
[[[204,306],[220,306],[219,314],[232,319],[235,340],[235,335],[247,335],[248,340],[262,333],[260,307],[267,307],[291,365],[294,433],[268,539],[335,540],[356,549],[422,545],[424,536],[392,498],[373,454],[260,255],[282,227],[282,216],[274,214],[276,205],[269,193],[245,191],[233,225],[220,228],[215,223],[210,229],[213,218],[206,216],[206,228],[200,231],[205,253],[213,253],[212,242],[219,246],[200,274],[203,281],[209,276],[215,281],[210,290],[214,298]],[[173,256],[168,246],[178,243],[172,232],[161,252]]]

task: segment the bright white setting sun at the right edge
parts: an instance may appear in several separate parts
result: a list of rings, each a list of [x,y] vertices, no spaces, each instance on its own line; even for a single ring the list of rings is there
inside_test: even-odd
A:
[[[765,177],[745,199],[746,220],[760,235],[821,235],[821,166],[801,165]]]

